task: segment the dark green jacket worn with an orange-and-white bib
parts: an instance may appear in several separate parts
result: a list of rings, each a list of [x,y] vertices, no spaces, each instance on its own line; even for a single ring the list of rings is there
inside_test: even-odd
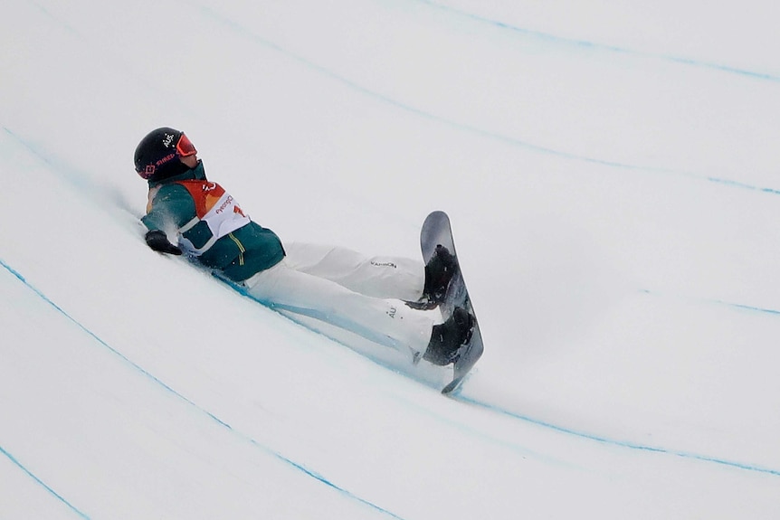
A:
[[[188,252],[189,256],[236,282],[248,279],[255,273],[279,263],[284,258],[279,237],[271,230],[250,221],[237,204],[230,206],[233,213],[239,213],[234,215],[236,218],[233,222],[237,223],[233,223],[232,227],[240,227],[214,241],[214,232],[206,222],[208,217],[203,214],[208,209],[204,204],[205,199],[201,200],[203,197],[199,196],[197,191],[186,187],[203,184],[222,190],[221,186],[214,183],[189,182],[206,180],[203,163],[198,161],[195,168],[183,174],[161,182],[149,181],[147,214],[141,221],[150,231],[167,232],[175,228],[179,246]],[[234,203],[228,194],[224,196],[230,203]],[[219,208],[216,208],[217,213],[218,210]]]

